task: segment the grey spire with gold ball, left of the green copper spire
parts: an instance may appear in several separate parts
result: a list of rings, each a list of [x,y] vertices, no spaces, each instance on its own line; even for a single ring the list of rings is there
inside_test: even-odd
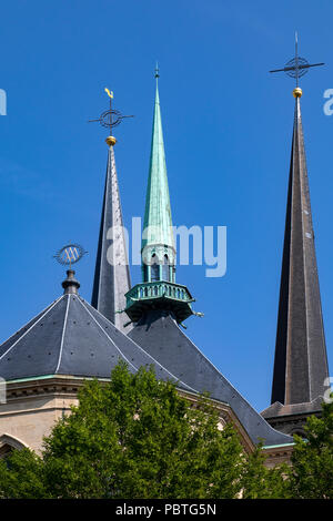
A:
[[[123,333],[128,321],[118,311],[125,307],[124,294],[130,289],[130,270],[114,161],[115,139],[107,139],[109,147],[103,208],[92,290],[92,306]]]

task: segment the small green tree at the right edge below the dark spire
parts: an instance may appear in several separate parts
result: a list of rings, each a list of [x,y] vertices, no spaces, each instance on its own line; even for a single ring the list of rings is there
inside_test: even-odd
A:
[[[294,436],[290,470],[292,496],[333,499],[333,402],[323,402],[321,418],[309,417],[304,429],[307,440]]]

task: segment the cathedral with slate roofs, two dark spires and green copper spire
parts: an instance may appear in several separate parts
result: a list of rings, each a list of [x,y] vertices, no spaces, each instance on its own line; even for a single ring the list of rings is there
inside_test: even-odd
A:
[[[41,450],[54,422],[78,403],[84,379],[107,381],[119,360],[133,372],[153,365],[193,402],[209,392],[221,423],[231,422],[244,450],[263,440],[268,464],[289,460],[294,432],[320,415],[329,377],[314,233],[296,86],[271,405],[261,413],[184,334],[195,314],[188,287],[175,279],[175,242],[164,154],[159,73],[155,73],[142,282],[131,285],[110,126],[91,304],[70,266],[63,292],[0,346],[0,458],[13,448]],[[113,231],[113,235],[110,235]],[[117,231],[117,232],[114,232]],[[112,247],[110,248],[110,245]],[[40,286],[42,287],[42,286]],[[273,349],[272,349],[273,350]],[[269,397],[268,397],[269,401]]]

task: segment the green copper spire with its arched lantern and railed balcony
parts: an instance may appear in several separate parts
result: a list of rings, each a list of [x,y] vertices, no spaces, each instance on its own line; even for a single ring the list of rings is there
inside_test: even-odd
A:
[[[185,286],[175,284],[175,247],[168,186],[158,78],[149,178],[142,233],[143,282],[125,294],[125,311],[138,323],[151,309],[168,311],[180,324],[191,315],[194,299]]]

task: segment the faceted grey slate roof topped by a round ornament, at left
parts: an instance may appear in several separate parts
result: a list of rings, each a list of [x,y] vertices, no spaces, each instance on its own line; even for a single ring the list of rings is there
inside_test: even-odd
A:
[[[75,293],[65,293],[0,346],[0,375],[6,380],[48,375],[110,378],[124,360],[135,372],[155,366],[158,378],[176,380]],[[179,387],[193,391],[186,384]]]

